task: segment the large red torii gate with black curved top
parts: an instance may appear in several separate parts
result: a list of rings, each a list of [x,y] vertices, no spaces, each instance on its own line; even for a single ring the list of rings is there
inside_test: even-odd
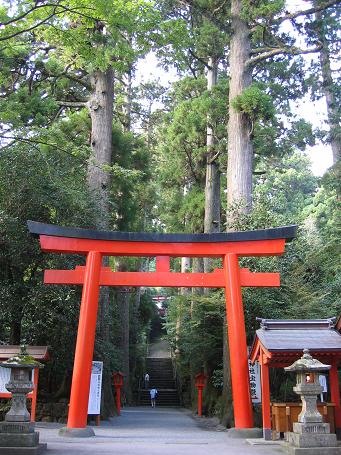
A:
[[[279,286],[280,281],[278,273],[240,269],[238,257],[283,254],[297,226],[218,234],[106,232],[34,221],[28,221],[28,228],[39,236],[42,251],[86,255],[85,267],[46,270],[44,276],[47,284],[83,284],[67,432],[80,435],[87,424],[100,286],[225,288],[235,427],[253,427],[241,287]],[[103,256],[156,257],[156,271],[112,272],[102,267]],[[174,273],[170,257],[222,258],[223,268],[212,273]]]

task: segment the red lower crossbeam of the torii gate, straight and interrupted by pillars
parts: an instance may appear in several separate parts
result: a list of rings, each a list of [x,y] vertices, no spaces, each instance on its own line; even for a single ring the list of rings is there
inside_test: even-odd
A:
[[[75,270],[45,270],[45,284],[83,284],[84,267]],[[248,269],[240,270],[240,281],[244,287],[280,286],[279,273],[255,273]],[[162,287],[225,287],[223,269],[212,273],[177,272],[112,272],[101,269],[101,286],[162,286]]]

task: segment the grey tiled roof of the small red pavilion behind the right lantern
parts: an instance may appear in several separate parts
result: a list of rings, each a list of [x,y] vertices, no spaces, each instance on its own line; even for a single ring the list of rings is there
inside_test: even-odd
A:
[[[260,328],[251,348],[254,362],[262,351],[272,361],[285,363],[290,357],[309,349],[314,355],[341,358],[341,333],[336,318],[329,319],[258,319]]]

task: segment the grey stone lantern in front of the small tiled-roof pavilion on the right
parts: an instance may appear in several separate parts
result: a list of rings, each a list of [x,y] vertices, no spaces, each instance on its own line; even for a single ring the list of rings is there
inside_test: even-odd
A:
[[[341,455],[341,447],[337,447],[336,435],[330,434],[329,423],[324,423],[317,409],[317,396],[322,392],[319,383],[319,372],[327,371],[325,365],[314,359],[308,349],[303,356],[289,367],[287,372],[296,373],[294,392],[301,397],[302,411],[298,422],[293,424],[293,432],[288,434],[288,451],[290,454],[308,455]]]

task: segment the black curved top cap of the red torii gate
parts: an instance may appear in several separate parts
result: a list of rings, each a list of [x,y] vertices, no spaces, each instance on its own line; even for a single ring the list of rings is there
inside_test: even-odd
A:
[[[296,236],[298,226],[281,226],[255,231],[220,232],[214,234],[161,234],[158,232],[117,232],[98,231],[75,227],[63,227],[54,224],[27,221],[29,232],[38,237],[68,237],[92,240],[112,240],[124,242],[158,242],[158,243],[219,243],[245,242],[253,240],[292,240]]]

